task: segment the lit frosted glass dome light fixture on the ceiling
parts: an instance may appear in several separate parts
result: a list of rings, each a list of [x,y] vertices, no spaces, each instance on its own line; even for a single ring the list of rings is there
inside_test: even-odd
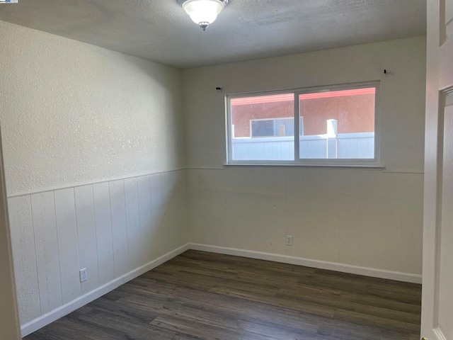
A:
[[[229,0],[178,0],[194,23],[206,30],[215,21]]]

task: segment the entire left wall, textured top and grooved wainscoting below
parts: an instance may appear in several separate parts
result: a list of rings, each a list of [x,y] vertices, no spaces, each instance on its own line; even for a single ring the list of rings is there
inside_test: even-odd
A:
[[[11,23],[0,30],[0,124],[28,334],[188,241],[181,72]]]

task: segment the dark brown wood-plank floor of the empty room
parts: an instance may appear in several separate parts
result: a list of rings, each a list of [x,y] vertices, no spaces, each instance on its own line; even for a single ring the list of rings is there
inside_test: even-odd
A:
[[[26,340],[415,340],[421,286],[186,251]]]

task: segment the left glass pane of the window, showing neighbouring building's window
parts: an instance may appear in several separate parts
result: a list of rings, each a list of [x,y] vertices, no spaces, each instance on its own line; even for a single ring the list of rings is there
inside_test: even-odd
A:
[[[231,159],[294,160],[294,94],[231,98]]]

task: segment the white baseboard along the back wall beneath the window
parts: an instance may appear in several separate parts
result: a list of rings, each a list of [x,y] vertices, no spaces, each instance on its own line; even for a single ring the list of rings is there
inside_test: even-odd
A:
[[[422,283],[422,276],[411,273],[400,273],[398,271],[384,271],[382,269],[366,268],[359,266],[351,266],[349,264],[335,263],[328,261],[319,261],[311,259],[302,259],[295,256],[279,255],[264,253],[261,251],[251,251],[244,249],[226,248],[224,246],[209,246],[207,244],[188,244],[189,249],[209,251],[211,253],[226,254],[234,256],[249,257],[251,259],[260,259],[266,261],[274,261],[280,263],[296,264],[298,266],[306,266],[311,268],[327,269],[329,271],[340,271],[342,273],[357,274],[363,276],[371,276],[373,278],[386,278],[388,280],[396,280],[410,283]]]

